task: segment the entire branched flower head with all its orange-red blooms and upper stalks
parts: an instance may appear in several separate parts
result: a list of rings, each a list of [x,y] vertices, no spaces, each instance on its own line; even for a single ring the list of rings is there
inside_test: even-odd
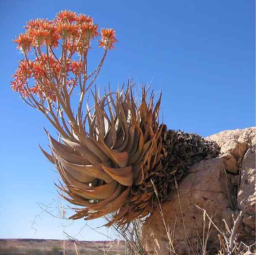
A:
[[[70,109],[70,106],[63,105],[69,102],[63,97],[69,97],[78,83],[81,92],[85,91],[87,80],[96,79],[107,51],[114,49],[113,44],[117,42],[113,29],[101,30],[99,47],[104,47],[105,52],[99,66],[87,74],[87,53],[92,40],[100,36],[98,27],[92,17],[67,10],[59,12],[53,20],[28,21],[25,33],[14,40],[25,58],[13,75],[12,89],[19,92],[24,100],[28,98],[26,102],[36,108],[44,109],[46,101],[48,107],[49,102],[58,101],[58,105],[61,103],[64,109]],[[54,52],[58,46],[61,48],[59,56]],[[32,50],[34,54],[30,53]],[[34,60],[29,59],[32,55]],[[31,82],[32,86],[29,85]],[[91,85],[92,82],[88,88]],[[34,95],[38,95],[39,100]]]

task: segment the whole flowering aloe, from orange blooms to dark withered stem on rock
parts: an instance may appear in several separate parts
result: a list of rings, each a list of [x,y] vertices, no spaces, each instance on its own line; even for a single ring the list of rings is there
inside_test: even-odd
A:
[[[94,106],[89,107],[89,100],[84,106],[85,95],[117,42],[113,29],[101,29],[99,47],[104,54],[90,73],[87,55],[99,35],[90,16],[61,11],[53,20],[31,20],[25,29],[14,40],[24,59],[11,86],[59,132],[58,140],[47,132],[50,153],[41,149],[58,169],[61,196],[80,206],[73,208],[71,219],[110,214],[107,225],[121,226],[144,218],[157,208],[154,187],[164,203],[175,179],[185,176],[193,163],[218,155],[215,143],[167,130],[159,120],[161,95],[155,100],[145,86],[139,102],[129,81],[126,89],[110,89],[103,97],[95,92]],[[58,57],[54,48],[59,45]],[[32,55],[35,59],[30,60]],[[76,115],[70,103],[74,91],[80,95]]]

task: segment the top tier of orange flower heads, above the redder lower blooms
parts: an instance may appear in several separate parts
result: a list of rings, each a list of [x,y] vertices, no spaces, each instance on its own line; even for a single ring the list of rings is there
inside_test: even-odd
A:
[[[81,53],[81,47],[88,48],[90,40],[99,36],[97,32],[99,25],[93,24],[93,18],[85,14],[77,15],[73,11],[61,11],[55,20],[36,19],[27,22],[26,33],[20,34],[14,40],[23,52],[27,53],[31,47],[42,47],[44,45],[57,48],[59,40],[67,40]],[[115,31],[113,29],[102,29],[102,40],[99,47],[111,49],[116,43]],[[79,51],[80,49],[80,51]]]

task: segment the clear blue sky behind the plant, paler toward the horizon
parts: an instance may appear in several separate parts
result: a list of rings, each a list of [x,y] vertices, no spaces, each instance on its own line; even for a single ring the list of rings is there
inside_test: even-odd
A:
[[[92,16],[100,27],[113,27],[119,43],[96,85],[103,89],[110,82],[115,89],[128,77],[139,83],[153,80],[152,88],[163,91],[161,108],[169,129],[207,136],[255,125],[253,0],[12,0],[1,1],[1,9],[0,238],[63,236],[62,221],[41,213],[38,206],[58,205],[53,184],[58,175],[38,148],[38,142],[47,147],[42,125],[52,129],[10,89],[10,75],[22,57],[11,40],[23,32],[27,20],[52,19],[70,9]],[[92,51],[92,65],[100,53]],[[35,233],[31,224],[38,214]],[[103,223],[87,224],[94,228]],[[106,239],[83,220],[64,224],[70,224],[66,232],[81,240]],[[108,229],[97,230],[112,236]]]

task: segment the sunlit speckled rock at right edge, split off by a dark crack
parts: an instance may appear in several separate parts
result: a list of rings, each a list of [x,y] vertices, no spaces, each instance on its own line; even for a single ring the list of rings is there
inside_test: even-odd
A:
[[[241,183],[238,193],[239,210],[255,215],[255,145],[247,150],[241,167]]]

